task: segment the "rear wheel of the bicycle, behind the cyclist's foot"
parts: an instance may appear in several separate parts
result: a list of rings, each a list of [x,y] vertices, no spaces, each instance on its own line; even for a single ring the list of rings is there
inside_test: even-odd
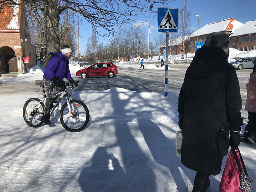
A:
[[[43,124],[44,104],[38,98],[30,98],[23,107],[23,118],[30,127],[39,127]]]

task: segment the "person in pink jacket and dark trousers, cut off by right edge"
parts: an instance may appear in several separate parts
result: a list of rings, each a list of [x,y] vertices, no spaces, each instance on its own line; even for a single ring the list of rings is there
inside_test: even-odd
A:
[[[256,144],[256,60],[252,62],[254,64],[253,72],[250,74],[248,84],[246,84],[245,109],[248,112],[248,122],[244,128],[244,142]]]

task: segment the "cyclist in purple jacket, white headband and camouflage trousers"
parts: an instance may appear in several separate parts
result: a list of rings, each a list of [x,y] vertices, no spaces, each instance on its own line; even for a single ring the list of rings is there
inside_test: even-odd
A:
[[[68,67],[68,58],[71,56],[72,49],[68,45],[62,45],[60,48],[59,56],[54,55],[50,58],[46,71],[43,76],[44,88],[46,91],[46,102],[44,104],[44,114],[41,121],[46,125],[50,125],[50,110],[53,108],[54,101],[58,98],[53,98],[53,92],[63,90],[65,88],[64,78],[70,83],[78,87],[78,83],[75,82],[70,74]],[[58,66],[58,63],[60,64]]]

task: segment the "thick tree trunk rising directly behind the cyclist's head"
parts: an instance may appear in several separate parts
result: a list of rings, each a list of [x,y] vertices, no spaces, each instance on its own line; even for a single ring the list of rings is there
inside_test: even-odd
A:
[[[44,9],[46,52],[58,52],[60,50],[59,21],[60,11],[57,9],[58,0],[48,0]]]

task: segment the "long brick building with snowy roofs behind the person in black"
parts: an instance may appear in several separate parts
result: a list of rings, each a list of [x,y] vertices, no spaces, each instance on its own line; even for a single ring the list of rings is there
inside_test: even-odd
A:
[[[242,24],[234,18],[229,18],[219,22],[207,24],[184,37],[185,52],[196,52],[196,42],[205,42],[209,34],[213,32],[225,32],[230,35],[231,48],[235,48],[240,51],[248,51],[256,49],[256,21],[246,22]],[[197,37],[198,34],[198,37]],[[169,40],[169,51],[172,55],[182,54],[182,37]],[[162,47],[162,50],[166,47]]]

